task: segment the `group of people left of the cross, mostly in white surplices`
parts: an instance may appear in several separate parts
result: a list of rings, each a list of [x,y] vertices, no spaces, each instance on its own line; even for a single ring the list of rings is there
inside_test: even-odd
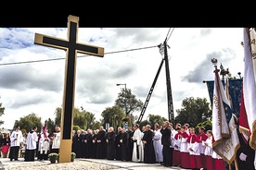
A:
[[[3,158],[9,158],[10,161],[19,161],[23,157],[24,161],[32,162],[37,158],[38,161],[48,160],[48,154],[58,153],[60,144],[60,128],[48,133],[48,129],[43,127],[43,132],[38,133],[37,128],[33,127],[30,132],[22,134],[20,127],[11,134],[0,139],[0,146]]]

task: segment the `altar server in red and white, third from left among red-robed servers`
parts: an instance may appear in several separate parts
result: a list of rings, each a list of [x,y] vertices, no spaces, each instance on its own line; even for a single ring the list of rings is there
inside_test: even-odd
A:
[[[202,168],[199,150],[200,141],[198,140],[198,136],[195,134],[190,135],[187,139],[187,142],[188,150],[192,149],[192,151],[189,151],[190,168]]]

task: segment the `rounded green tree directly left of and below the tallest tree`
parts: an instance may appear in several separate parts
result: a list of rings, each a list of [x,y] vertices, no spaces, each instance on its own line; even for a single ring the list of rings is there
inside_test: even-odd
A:
[[[106,127],[106,123],[109,123],[110,127],[116,129],[117,127],[124,126],[124,122],[122,121],[122,117],[124,113],[122,108],[119,105],[114,105],[112,107],[106,108],[102,113],[101,116],[103,119],[101,120],[103,126]]]

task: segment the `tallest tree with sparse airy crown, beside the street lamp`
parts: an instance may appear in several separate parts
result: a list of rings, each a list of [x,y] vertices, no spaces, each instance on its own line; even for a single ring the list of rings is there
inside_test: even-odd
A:
[[[141,111],[143,108],[143,102],[140,99],[136,99],[136,96],[132,93],[131,89],[122,88],[121,92],[118,93],[118,99],[115,101],[115,105],[120,106],[126,115],[132,117],[135,111]],[[132,119],[132,121],[134,121]]]

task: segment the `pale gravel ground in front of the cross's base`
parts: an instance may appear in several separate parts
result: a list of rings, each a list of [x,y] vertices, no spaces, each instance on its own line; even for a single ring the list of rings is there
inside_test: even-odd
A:
[[[5,165],[4,169],[5,170],[75,170],[75,169],[85,169],[85,170],[106,170],[106,169],[117,169],[119,166],[113,166],[109,164],[97,164],[97,163],[92,163],[89,161],[84,161],[84,160],[75,160],[74,162],[71,163],[61,163],[61,164],[50,164],[49,162],[47,163],[42,163],[42,164],[14,164],[14,165]]]

